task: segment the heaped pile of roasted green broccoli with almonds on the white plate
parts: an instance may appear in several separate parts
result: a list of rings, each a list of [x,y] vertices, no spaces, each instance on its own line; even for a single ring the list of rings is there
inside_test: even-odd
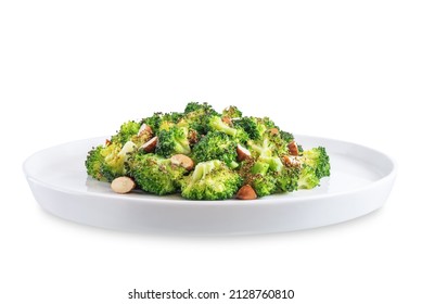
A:
[[[324,148],[304,151],[268,117],[197,102],[123,124],[85,164],[98,180],[127,177],[137,189],[188,200],[256,199],[311,189],[330,176]]]

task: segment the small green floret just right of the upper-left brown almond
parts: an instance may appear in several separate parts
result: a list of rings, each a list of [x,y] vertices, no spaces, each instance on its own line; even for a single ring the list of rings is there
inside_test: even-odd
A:
[[[190,154],[189,131],[187,128],[174,126],[158,132],[158,143],[155,153],[169,157],[174,154]]]

